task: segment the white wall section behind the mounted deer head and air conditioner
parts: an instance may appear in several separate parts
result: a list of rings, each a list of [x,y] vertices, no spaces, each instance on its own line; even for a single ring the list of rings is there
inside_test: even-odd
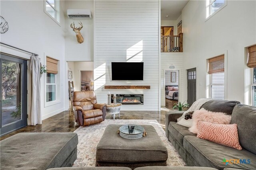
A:
[[[93,61],[93,19],[69,19],[68,9],[89,9],[93,14],[93,0],[65,0],[65,57],[66,61]],[[94,16],[92,16],[94,17]],[[70,27],[70,23],[75,23],[76,27],[82,22],[81,34],[84,42],[79,44],[76,34]]]

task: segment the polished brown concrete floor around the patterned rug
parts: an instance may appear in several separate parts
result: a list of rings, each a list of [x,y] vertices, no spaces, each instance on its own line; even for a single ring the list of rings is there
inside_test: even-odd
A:
[[[120,111],[120,119],[155,119],[165,125],[165,115],[168,111]],[[111,119],[111,115],[106,115]],[[116,116],[116,119],[119,119]],[[114,120],[113,120],[114,121]],[[6,139],[12,135],[23,132],[73,132],[79,125],[75,123],[74,113],[71,110],[63,111],[57,115],[44,119],[42,125],[26,126],[10,134],[0,137]]]

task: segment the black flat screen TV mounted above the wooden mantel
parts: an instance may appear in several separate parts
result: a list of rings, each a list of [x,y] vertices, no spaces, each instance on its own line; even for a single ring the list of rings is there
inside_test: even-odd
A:
[[[144,63],[112,62],[112,80],[143,80]]]

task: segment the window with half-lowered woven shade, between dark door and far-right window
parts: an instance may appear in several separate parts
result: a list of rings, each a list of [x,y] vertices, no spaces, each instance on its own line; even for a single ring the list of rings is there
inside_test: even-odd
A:
[[[209,96],[213,99],[225,98],[224,55],[208,59],[208,74],[210,74]]]

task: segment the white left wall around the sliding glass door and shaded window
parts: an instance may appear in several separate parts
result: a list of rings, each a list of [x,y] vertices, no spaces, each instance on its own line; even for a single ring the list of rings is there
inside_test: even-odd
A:
[[[4,17],[9,30],[1,34],[1,42],[31,51],[39,55],[42,64],[46,64],[46,55],[59,60],[58,76],[65,77],[65,43],[64,43],[64,2],[60,2],[60,25],[44,13],[43,0],[1,0],[0,16]],[[32,7],[29,8],[28,7]],[[1,52],[30,59],[30,55],[21,51],[0,46]],[[57,49],[57,50],[56,50]],[[29,67],[28,67],[29,68]],[[30,70],[28,70],[30,72]],[[45,107],[45,74],[41,78],[42,118],[64,111],[64,94],[60,93],[58,104]],[[30,80],[30,74],[28,74]],[[64,91],[65,79],[60,79],[60,91]],[[28,81],[28,114],[30,113],[30,81]]]

